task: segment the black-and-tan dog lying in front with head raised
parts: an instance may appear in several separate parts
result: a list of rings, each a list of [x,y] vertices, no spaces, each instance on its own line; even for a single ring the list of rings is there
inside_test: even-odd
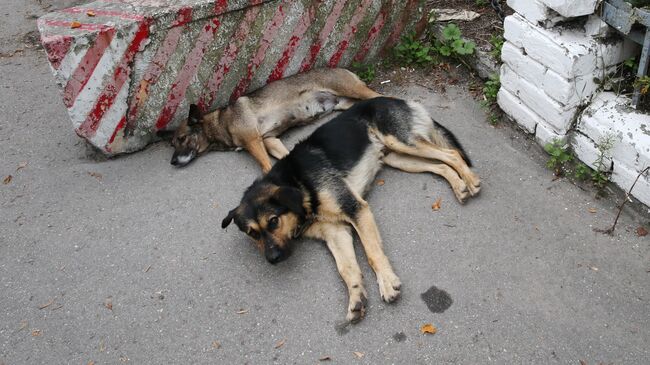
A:
[[[422,105],[385,97],[362,101],[319,127],[255,181],[222,227],[234,220],[273,264],[288,256],[294,238],[324,240],[348,287],[347,319],[355,322],[364,315],[366,290],[350,226],[361,239],[382,299],[392,302],[400,294],[400,280],[363,199],[382,162],[408,172],[440,174],[462,202],[480,190],[466,161],[456,138]]]

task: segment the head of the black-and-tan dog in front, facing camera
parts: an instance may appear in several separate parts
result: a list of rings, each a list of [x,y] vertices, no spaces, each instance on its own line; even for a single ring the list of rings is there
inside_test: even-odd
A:
[[[256,181],[239,206],[221,222],[226,228],[234,220],[239,230],[255,241],[266,260],[276,264],[290,254],[289,242],[302,232],[306,210],[300,189]]]

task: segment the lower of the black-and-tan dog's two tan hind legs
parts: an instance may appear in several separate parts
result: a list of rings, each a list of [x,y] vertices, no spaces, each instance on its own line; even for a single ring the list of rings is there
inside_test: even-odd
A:
[[[464,203],[465,199],[469,197],[467,185],[463,179],[458,176],[458,173],[456,173],[456,171],[454,171],[454,169],[448,165],[435,163],[423,158],[412,157],[396,152],[389,153],[388,155],[384,156],[382,160],[386,165],[398,170],[412,173],[430,172],[444,177],[445,180],[447,180],[451,185],[451,188],[456,195],[456,199],[458,199],[460,203]]]

